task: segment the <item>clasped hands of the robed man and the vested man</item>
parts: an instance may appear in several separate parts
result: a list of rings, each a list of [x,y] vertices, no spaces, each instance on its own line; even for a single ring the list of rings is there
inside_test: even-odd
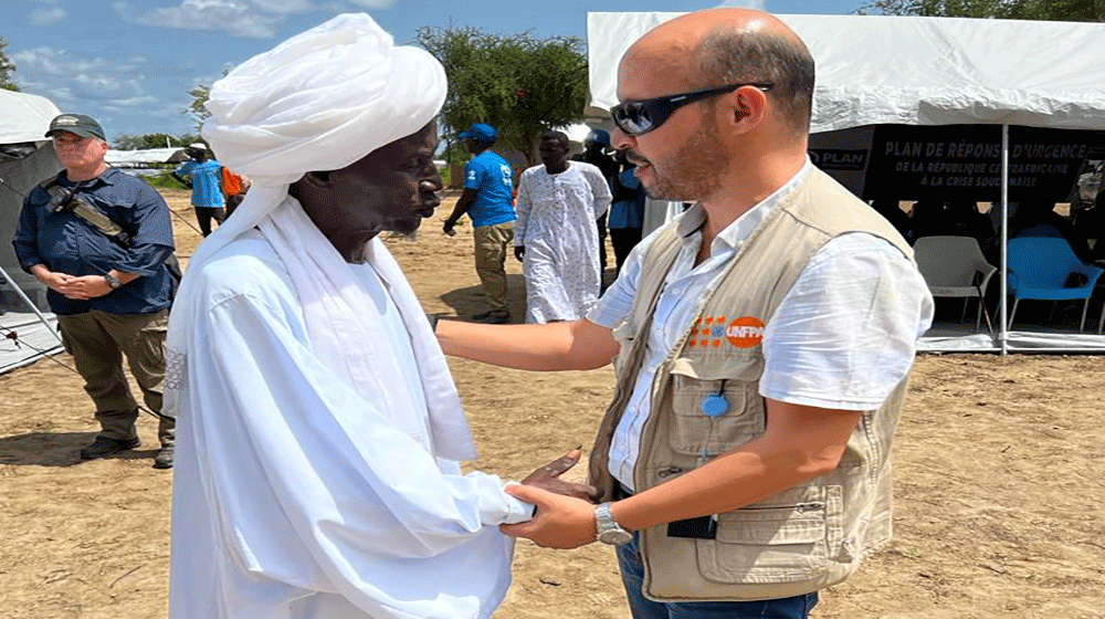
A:
[[[546,548],[577,548],[594,542],[598,490],[560,479],[581,455],[579,449],[573,449],[530,473],[520,485],[507,486],[507,494],[535,506],[534,517],[529,522],[501,525],[499,529]]]

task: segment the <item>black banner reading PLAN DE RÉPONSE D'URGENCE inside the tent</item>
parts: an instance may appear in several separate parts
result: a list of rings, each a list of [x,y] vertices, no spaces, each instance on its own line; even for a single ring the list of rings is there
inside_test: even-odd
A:
[[[1010,127],[1010,201],[1065,201],[1082,161],[1099,149],[1099,132]],[[863,198],[968,199],[1001,196],[1001,126],[880,125]]]

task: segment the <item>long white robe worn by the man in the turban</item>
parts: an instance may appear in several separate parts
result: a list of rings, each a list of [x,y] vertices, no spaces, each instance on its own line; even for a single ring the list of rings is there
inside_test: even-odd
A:
[[[281,210],[305,220],[290,202]],[[178,411],[170,617],[490,617],[511,580],[513,541],[497,525],[527,520],[530,507],[498,478],[462,475],[441,458],[465,451],[471,437],[427,413],[428,400],[440,406],[455,390],[448,373],[425,375],[434,366],[427,349],[440,348],[418,339],[432,336],[411,322],[424,314],[410,307],[393,259],[373,240],[371,264],[346,265],[345,279],[370,300],[357,312],[377,328],[344,345],[391,364],[380,373],[390,380],[385,403],[313,350],[296,271],[266,234],[242,234],[189,274],[197,315],[182,338],[187,360],[169,350]]]

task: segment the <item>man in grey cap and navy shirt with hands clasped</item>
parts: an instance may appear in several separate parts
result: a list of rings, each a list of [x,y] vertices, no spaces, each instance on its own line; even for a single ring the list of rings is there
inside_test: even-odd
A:
[[[141,444],[138,403],[123,373],[125,356],[146,407],[160,418],[157,469],[172,466],[176,419],[161,411],[165,334],[172,286],[169,207],[148,183],[104,157],[107,140],[95,119],[62,114],[50,123],[57,160],[65,168],[35,187],[23,202],[12,244],[24,271],[48,288],[65,349],[96,405],[101,431],[81,450],[83,460]],[[85,210],[88,209],[88,210]],[[107,237],[81,213],[98,211],[123,229]]]

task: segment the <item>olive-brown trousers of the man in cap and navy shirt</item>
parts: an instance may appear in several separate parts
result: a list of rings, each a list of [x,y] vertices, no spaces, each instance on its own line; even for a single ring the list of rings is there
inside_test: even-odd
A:
[[[161,412],[165,384],[165,332],[168,312],[155,314],[110,314],[93,310],[84,314],[57,316],[65,350],[73,355],[84,378],[84,390],[96,405],[101,436],[116,440],[138,436],[138,402],[130,395],[123,357],[141,389],[146,407]],[[176,419],[161,418],[161,447],[173,444]]]

